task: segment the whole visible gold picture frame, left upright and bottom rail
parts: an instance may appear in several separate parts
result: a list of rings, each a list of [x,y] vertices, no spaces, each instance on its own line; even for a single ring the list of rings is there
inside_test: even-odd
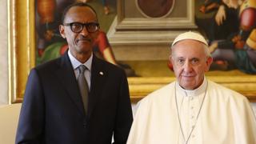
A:
[[[35,66],[34,0],[8,1],[8,62],[10,103],[22,102],[26,79]],[[256,102],[256,75],[207,77],[246,95]],[[128,78],[130,98],[137,102],[146,94],[174,81],[174,77]]]

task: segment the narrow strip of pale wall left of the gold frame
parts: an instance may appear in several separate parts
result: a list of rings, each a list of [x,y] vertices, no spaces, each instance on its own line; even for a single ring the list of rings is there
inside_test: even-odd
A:
[[[7,0],[0,0],[0,105],[8,103]]]

